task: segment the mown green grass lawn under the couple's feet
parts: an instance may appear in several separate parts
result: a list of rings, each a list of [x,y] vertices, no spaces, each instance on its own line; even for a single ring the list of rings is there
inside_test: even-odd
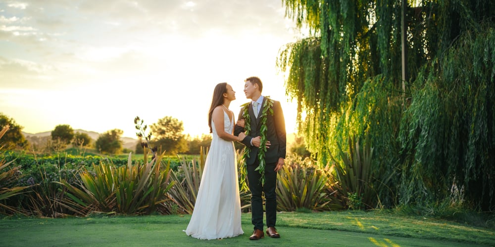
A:
[[[495,230],[446,220],[384,212],[281,212],[280,239],[249,241],[244,235],[222,240],[186,236],[191,215],[101,216],[85,218],[4,217],[0,246],[495,246]]]

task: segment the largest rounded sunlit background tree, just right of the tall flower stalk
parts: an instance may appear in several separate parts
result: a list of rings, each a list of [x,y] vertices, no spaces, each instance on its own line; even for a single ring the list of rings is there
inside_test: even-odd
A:
[[[188,151],[188,144],[184,131],[184,124],[176,118],[164,117],[157,123],[151,124],[153,133],[152,144],[158,150],[166,151],[168,155],[182,154]]]

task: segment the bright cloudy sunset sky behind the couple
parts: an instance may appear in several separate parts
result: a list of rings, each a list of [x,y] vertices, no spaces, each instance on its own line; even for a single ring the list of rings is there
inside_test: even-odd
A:
[[[297,104],[276,59],[300,37],[282,0],[1,0],[0,112],[28,133],[69,124],[136,138],[136,116],[171,116],[198,136],[215,85],[236,91],[237,119],[257,76],[291,133]]]

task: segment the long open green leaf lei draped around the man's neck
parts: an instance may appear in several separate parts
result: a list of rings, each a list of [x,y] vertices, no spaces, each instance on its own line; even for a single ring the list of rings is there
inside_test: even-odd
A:
[[[259,143],[259,150],[258,150],[258,160],[259,160],[259,165],[255,169],[259,172],[261,175],[260,181],[261,184],[265,184],[265,152],[266,152],[266,131],[268,127],[266,126],[266,116],[268,115],[268,112],[270,112],[270,115],[273,115],[273,100],[265,97],[266,100],[263,103],[262,111],[261,111],[261,116],[260,116],[260,136],[261,140]],[[249,135],[251,132],[251,118],[249,116],[249,103],[247,102],[242,105],[244,107],[243,111],[243,117],[244,117],[244,130],[246,131],[246,135]],[[247,146],[244,147],[244,152],[242,156],[242,162],[241,162],[241,172],[246,175],[247,174],[247,165],[246,161],[247,158],[249,158],[249,148]],[[246,185],[246,181],[244,180],[246,176],[241,176],[241,183],[243,184],[243,187]]]

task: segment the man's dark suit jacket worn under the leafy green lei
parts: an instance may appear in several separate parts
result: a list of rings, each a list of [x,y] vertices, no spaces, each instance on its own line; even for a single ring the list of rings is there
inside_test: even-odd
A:
[[[251,120],[251,132],[248,136],[244,138],[242,143],[249,149],[249,158],[246,161],[247,165],[252,165],[257,159],[258,156],[258,148],[251,145],[251,138],[261,135],[261,113],[263,112],[263,106],[266,97],[263,99],[263,104],[261,104],[261,108],[259,109],[259,118],[254,117],[254,113],[252,111],[252,103],[249,103],[247,106],[247,111],[249,113],[249,118]],[[239,113],[239,120],[244,120],[243,112],[244,107],[241,109]],[[266,115],[266,139],[270,141],[270,147],[265,152],[265,163],[271,164],[278,162],[279,158],[284,158],[286,155],[286,132],[285,132],[285,120],[284,113],[282,112],[282,107],[279,101],[273,101],[273,115],[270,112],[267,112]],[[235,126],[234,135],[238,136],[239,133],[244,132],[244,127],[239,125]]]

